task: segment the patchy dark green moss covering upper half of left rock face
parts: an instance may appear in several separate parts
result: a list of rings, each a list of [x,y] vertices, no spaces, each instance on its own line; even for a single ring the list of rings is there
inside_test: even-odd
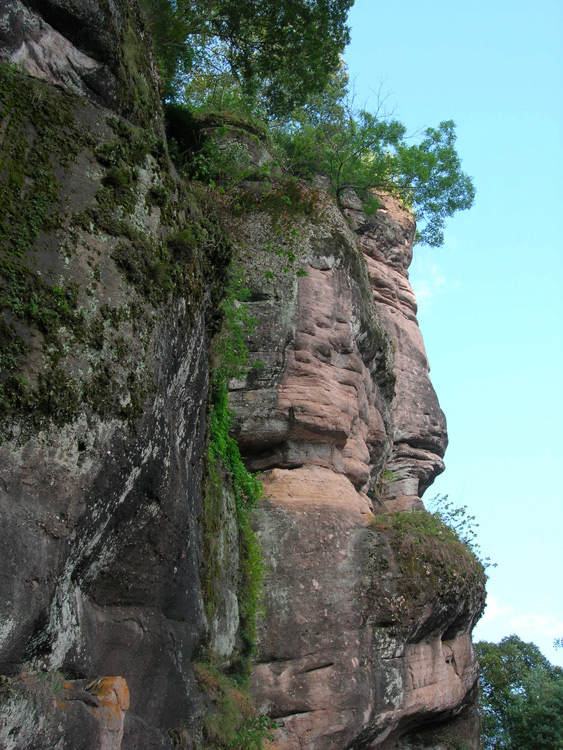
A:
[[[108,139],[85,126],[79,99],[3,63],[0,93],[0,440],[89,410],[133,425],[154,388],[155,308],[182,297],[189,318],[204,277],[218,299],[231,246],[206,191],[172,181],[161,138],[110,116]],[[85,148],[101,185],[83,208],[59,190]],[[139,223],[154,206],[160,236]],[[110,257],[137,292],[123,304],[105,298]]]

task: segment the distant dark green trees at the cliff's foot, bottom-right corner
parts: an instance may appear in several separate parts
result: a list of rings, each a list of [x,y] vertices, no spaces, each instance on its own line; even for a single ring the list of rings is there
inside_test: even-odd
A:
[[[476,649],[484,749],[563,748],[563,670],[516,635]]]

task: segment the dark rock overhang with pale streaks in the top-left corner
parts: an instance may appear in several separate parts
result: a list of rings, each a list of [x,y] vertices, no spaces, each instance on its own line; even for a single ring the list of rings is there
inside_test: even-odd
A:
[[[126,0],[7,0],[0,58],[127,117],[155,122],[157,77],[136,4]]]

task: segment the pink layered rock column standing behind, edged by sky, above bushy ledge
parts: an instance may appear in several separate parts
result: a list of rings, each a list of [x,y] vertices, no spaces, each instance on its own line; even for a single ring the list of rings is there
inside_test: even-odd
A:
[[[446,420],[430,381],[408,278],[415,224],[395,198],[381,195],[380,200],[382,207],[374,217],[350,209],[346,213],[358,224],[377,310],[395,345],[393,456],[387,466],[395,478],[386,484],[385,495],[389,500],[414,499],[444,470]]]

